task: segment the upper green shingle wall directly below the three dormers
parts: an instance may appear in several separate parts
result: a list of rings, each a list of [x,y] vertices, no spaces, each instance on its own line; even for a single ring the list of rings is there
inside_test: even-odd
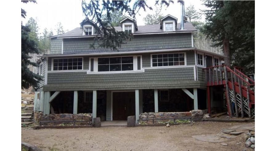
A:
[[[94,44],[95,49],[90,48],[93,38],[66,38],[63,42],[63,54],[86,54],[115,52],[109,48],[99,48],[98,43]],[[62,44],[59,41],[59,44]],[[191,48],[191,33],[180,34],[159,34],[159,35],[135,35],[126,44],[122,44],[118,51],[139,51],[139,50],[159,50],[175,48]],[[51,50],[54,51],[54,50]],[[51,54],[60,54],[61,52],[51,52]]]

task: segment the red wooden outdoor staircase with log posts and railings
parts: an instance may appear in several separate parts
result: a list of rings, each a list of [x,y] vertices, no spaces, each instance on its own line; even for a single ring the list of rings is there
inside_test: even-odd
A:
[[[208,112],[211,113],[210,89],[223,85],[227,101],[228,114],[232,115],[232,106],[235,116],[255,117],[255,81],[247,77],[237,68],[231,70],[226,65],[212,66],[204,69],[207,81]],[[233,105],[231,105],[233,104]]]

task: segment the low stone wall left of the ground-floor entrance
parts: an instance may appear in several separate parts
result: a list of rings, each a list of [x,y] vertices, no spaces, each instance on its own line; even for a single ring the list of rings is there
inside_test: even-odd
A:
[[[34,113],[35,123],[39,125],[39,121],[90,121],[90,122],[76,122],[75,125],[92,125],[92,113],[80,113],[80,114],[49,114],[43,115],[41,112]],[[53,125],[74,125],[73,122],[44,122],[41,125],[53,126]]]

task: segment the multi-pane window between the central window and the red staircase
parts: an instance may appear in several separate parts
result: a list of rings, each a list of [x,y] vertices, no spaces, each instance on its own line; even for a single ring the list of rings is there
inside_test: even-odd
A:
[[[184,53],[153,54],[152,66],[185,66],[185,55]]]

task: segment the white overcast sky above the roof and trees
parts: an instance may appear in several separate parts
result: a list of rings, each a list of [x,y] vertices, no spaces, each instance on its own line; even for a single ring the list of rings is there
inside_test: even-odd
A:
[[[177,1],[170,5],[167,9],[163,7],[163,15],[171,14],[178,18],[180,22],[180,4]],[[132,2],[131,2],[132,4]],[[147,4],[152,8],[155,8],[155,0],[147,1]],[[201,5],[202,1],[189,0],[185,1],[185,10],[188,6],[194,5],[196,10],[204,9],[205,6]],[[30,17],[37,18],[39,32],[42,33],[44,28],[55,29],[58,22],[61,22],[64,30],[73,30],[76,27],[80,27],[79,23],[85,18],[82,13],[81,0],[37,0],[36,3],[21,3],[22,9],[26,11],[26,19],[22,19],[23,24],[25,24]],[[144,25],[143,18],[147,14],[151,14],[153,11],[140,10],[139,14],[136,16],[137,25]],[[204,20],[204,17],[202,17]],[[54,32],[55,34],[55,32]]]

